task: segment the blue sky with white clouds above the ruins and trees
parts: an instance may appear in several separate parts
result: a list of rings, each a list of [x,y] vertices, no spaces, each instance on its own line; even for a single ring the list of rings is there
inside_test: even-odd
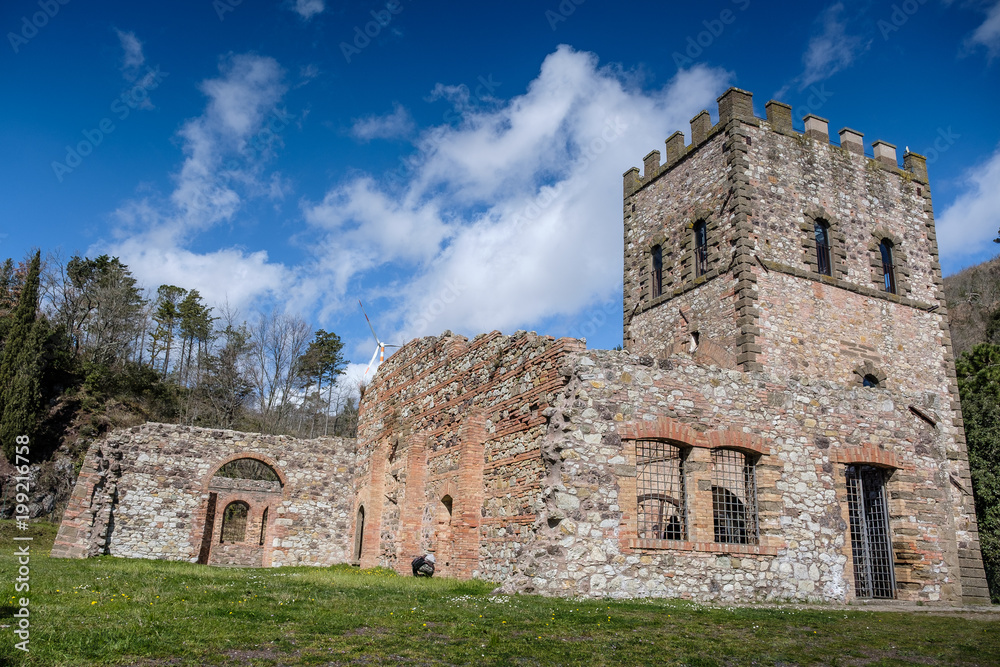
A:
[[[611,347],[622,173],[730,85],[927,155],[946,274],[996,253],[1000,0],[622,7],[7,0],[0,255],[117,255],[362,367],[359,298],[386,342]]]

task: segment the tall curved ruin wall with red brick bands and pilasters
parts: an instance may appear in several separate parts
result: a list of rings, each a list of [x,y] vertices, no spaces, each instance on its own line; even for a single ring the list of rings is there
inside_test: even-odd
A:
[[[388,359],[358,420],[359,564],[406,573],[430,552],[440,574],[505,580],[540,507],[542,413],[565,384],[562,359],[583,347],[525,332],[446,333]]]

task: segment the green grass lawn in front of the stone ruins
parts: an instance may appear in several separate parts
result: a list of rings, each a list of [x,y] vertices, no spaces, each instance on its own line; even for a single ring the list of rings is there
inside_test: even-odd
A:
[[[0,522],[0,626],[15,608]],[[996,665],[1000,618],[491,596],[349,567],[48,558],[33,524],[30,653],[0,665]],[[985,615],[983,615],[985,616]]]

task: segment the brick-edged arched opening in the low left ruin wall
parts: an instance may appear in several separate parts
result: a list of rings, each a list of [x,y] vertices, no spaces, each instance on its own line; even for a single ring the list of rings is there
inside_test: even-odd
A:
[[[284,484],[268,463],[243,456],[220,465],[207,485],[205,529],[199,563],[262,567],[271,549],[270,511]]]

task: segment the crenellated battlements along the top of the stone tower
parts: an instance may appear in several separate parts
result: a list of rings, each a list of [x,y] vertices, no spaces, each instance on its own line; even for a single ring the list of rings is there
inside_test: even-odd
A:
[[[643,158],[643,173],[638,167],[632,167],[623,174],[624,196],[629,197],[652,183],[658,177],[669,172],[687,155],[700,148],[710,138],[726,129],[731,121],[741,121],[749,125],[760,126],[760,121],[766,121],[772,132],[790,137],[806,137],[829,144],[829,121],[815,114],[803,117],[805,132],[798,132],[792,127],[792,107],[776,100],[769,101],[764,108],[767,118],[758,118],[753,113],[753,93],[739,88],[730,88],[718,98],[719,122],[712,125],[711,116],[707,110],[702,110],[691,119],[691,143],[685,145],[684,133],[674,132],[665,142],[666,162],[660,164],[660,151],[652,150]],[[840,148],[864,157],[864,135],[850,128],[843,128],[840,135]],[[927,184],[927,158],[917,153],[906,151],[903,154],[903,168],[899,168],[896,158],[896,146],[882,140],[872,143],[874,158],[866,158],[874,165],[887,171],[907,172],[913,180]]]

